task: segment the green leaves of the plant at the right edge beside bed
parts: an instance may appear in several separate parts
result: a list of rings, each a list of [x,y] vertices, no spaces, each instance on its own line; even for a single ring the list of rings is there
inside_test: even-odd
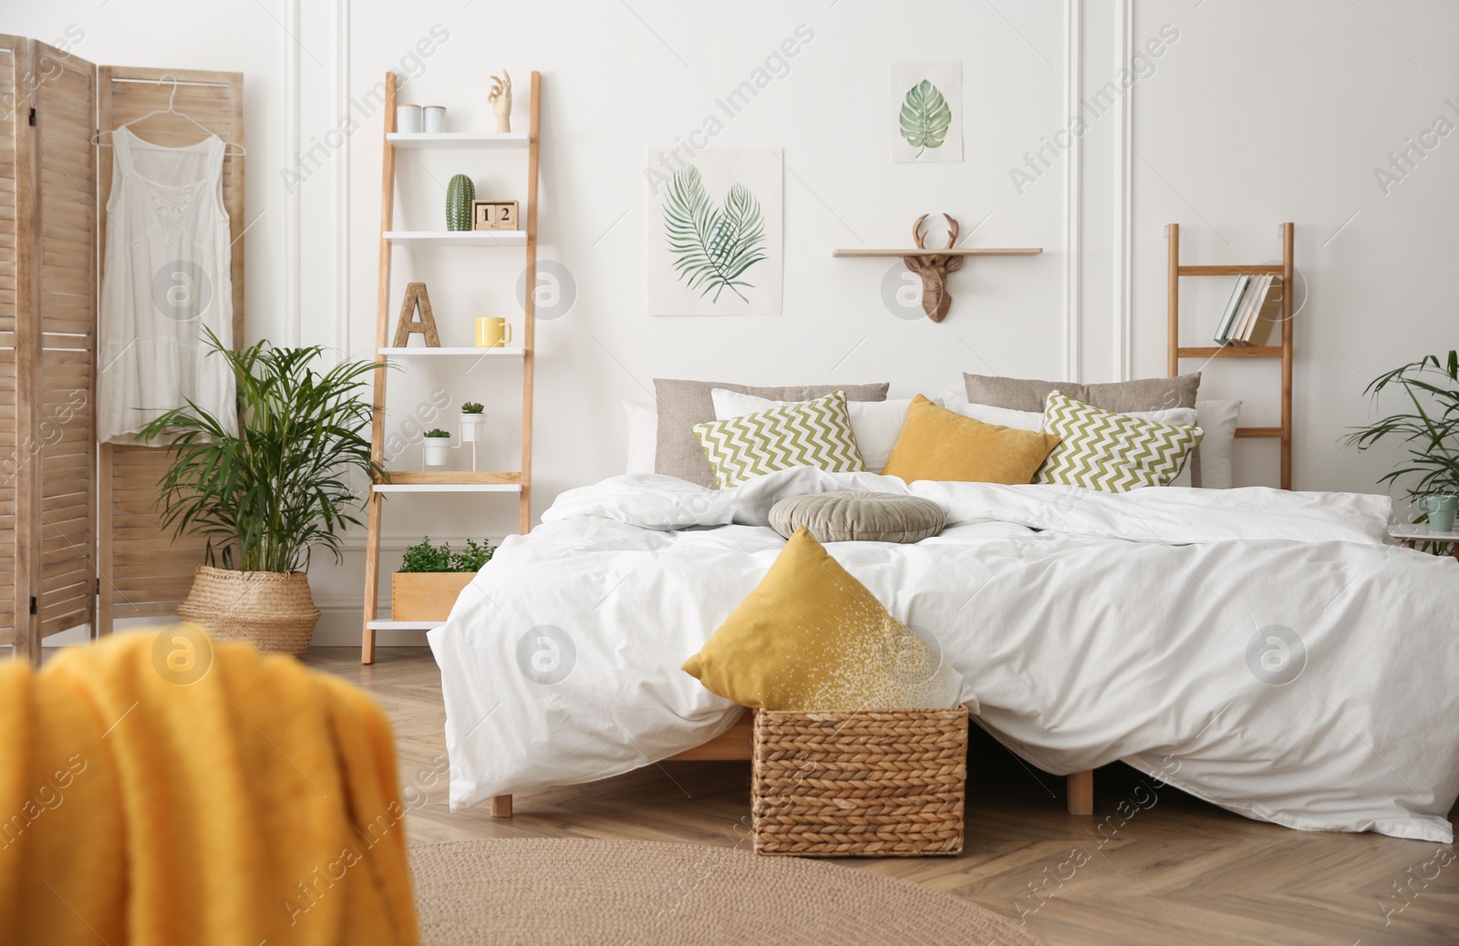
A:
[[[1459,493],[1459,351],[1428,354],[1373,379],[1364,394],[1396,391],[1405,410],[1389,414],[1347,437],[1366,450],[1396,440],[1405,455],[1379,482],[1405,480],[1408,499],[1430,493]],[[1412,410],[1406,410],[1406,408]]]

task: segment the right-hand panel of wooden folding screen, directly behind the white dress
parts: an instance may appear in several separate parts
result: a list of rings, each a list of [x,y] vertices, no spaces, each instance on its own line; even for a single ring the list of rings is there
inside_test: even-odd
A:
[[[102,66],[98,70],[96,124],[117,128],[153,109],[174,108],[210,128],[225,141],[244,141],[244,76],[162,69]],[[177,117],[149,118],[133,125],[147,141],[193,144],[201,131]],[[111,136],[108,136],[109,138]],[[229,149],[233,150],[233,149]],[[111,194],[111,149],[102,149],[98,200]],[[244,341],[244,159],[223,157],[223,206],[232,230],[233,345]],[[107,223],[102,219],[105,261]],[[219,363],[219,370],[223,364]],[[109,634],[114,618],[160,617],[177,611],[193,585],[193,570],[203,561],[204,539],[163,531],[158,515],[158,480],[166,469],[166,450],[147,446],[101,446],[101,574],[96,630]]]

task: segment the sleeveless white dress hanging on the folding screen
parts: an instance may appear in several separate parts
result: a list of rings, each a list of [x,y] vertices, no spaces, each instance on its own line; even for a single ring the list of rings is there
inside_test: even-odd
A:
[[[238,431],[233,375],[209,354],[210,328],[233,344],[232,242],[217,136],[165,147],[112,136],[107,265],[101,283],[98,439],[133,434],[188,401]],[[137,410],[143,408],[143,410]]]

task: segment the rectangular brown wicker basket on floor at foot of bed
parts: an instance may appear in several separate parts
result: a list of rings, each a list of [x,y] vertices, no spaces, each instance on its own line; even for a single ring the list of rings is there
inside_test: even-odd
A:
[[[757,854],[963,850],[967,710],[754,714]]]

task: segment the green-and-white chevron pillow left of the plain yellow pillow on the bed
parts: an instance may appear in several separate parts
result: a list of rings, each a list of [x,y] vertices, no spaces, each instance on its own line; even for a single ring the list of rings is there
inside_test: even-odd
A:
[[[851,431],[845,391],[694,424],[694,436],[721,490],[791,466],[820,466],[830,472],[867,469]]]

